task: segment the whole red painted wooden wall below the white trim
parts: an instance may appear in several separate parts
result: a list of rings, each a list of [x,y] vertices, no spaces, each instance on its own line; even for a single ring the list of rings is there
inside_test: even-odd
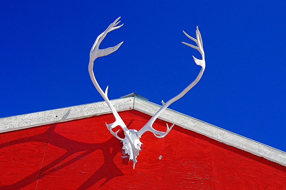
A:
[[[150,119],[119,115],[136,130]],[[285,166],[178,126],[161,139],[142,135],[132,169],[105,122],[113,115],[0,134],[0,189],[286,189]],[[154,128],[165,131],[166,122]]]

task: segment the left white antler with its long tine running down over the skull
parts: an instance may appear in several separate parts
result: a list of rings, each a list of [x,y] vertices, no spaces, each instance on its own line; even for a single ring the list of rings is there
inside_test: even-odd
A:
[[[92,48],[90,50],[90,62],[88,64],[88,72],[90,74],[90,78],[92,80],[92,83],[94,84],[95,88],[98,90],[100,95],[104,98],[105,102],[107,103],[108,107],[110,108],[110,110],[112,111],[112,113],[115,117],[114,123],[111,123],[111,124],[105,123],[106,127],[108,128],[108,130],[111,132],[112,135],[114,135],[119,140],[123,140],[122,138],[118,137],[118,135],[117,135],[119,130],[117,132],[112,131],[112,129],[115,128],[116,126],[120,126],[122,128],[122,130],[124,131],[125,136],[128,138],[128,140],[131,144],[132,153],[133,153],[133,169],[134,169],[135,163],[137,162],[136,157],[138,155],[138,151],[136,151],[137,149],[135,148],[134,144],[132,143],[130,132],[129,132],[128,128],[126,127],[126,125],[124,124],[123,120],[120,118],[120,116],[116,112],[114,106],[111,104],[111,102],[109,101],[109,99],[107,97],[108,86],[107,86],[105,92],[103,92],[102,89],[100,88],[100,86],[98,85],[98,83],[95,79],[95,76],[94,76],[94,72],[93,72],[93,64],[94,64],[94,60],[96,58],[111,54],[112,52],[116,51],[120,47],[120,45],[123,43],[123,42],[121,42],[114,47],[109,47],[106,49],[99,49],[98,48],[100,43],[102,42],[102,40],[104,39],[104,37],[106,36],[106,34],[108,32],[122,27],[123,24],[120,26],[116,26],[116,25],[118,25],[118,23],[120,23],[120,21],[117,22],[119,19],[120,19],[120,17],[117,18],[113,23],[111,23],[108,26],[108,28],[96,38],[96,41],[94,42],[94,45],[92,46]]]

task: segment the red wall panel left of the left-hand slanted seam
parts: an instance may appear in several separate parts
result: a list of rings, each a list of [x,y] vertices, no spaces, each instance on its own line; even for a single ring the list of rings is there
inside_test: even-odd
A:
[[[0,189],[36,189],[51,125],[0,134]]]

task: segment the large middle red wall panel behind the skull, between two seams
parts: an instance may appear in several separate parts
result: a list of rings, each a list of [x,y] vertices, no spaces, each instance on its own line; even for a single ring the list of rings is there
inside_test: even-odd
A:
[[[135,110],[119,114],[130,129],[139,130],[150,119]],[[214,189],[207,137],[178,126],[162,139],[147,132],[132,169],[105,122],[114,122],[113,115],[53,125],[38,189]],[[164,131],[166,122],[158,120],[154,128]]]

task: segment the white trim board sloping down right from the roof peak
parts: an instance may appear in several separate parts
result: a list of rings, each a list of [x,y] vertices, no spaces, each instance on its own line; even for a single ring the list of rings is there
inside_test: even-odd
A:
[[[160,107],[161,106],[157,104],[135,97],[134,110],[152,116],[160,109]],[[174,110],[166,109],[158,118],[170,123],[175,121],[175,124],[182,128],[197,132],[219,142],[237,147],[286,166],[286,152],[284,151],[269,147],[265,144],[245,138]]]

